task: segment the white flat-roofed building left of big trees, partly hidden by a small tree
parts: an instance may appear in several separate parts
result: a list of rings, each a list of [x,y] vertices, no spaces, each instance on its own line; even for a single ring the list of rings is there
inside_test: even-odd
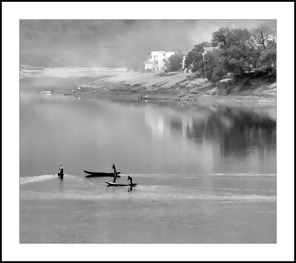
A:
[[[176,51],[168,52],[168,51],[147,51],[146,52],[146,61],[143,63],[143,72],[146,69],[151,70],[164,70],[164,62],[166,59],[174,55]],[[184,69],[184,61],[188,52],[182,52],[183,59],[182,59],[182,69]],[[180,65],[181,68],[181,65]]]

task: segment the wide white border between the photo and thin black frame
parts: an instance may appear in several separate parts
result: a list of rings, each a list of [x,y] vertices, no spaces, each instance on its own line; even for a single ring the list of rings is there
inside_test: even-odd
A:
[[[159,19],[154,4],[161,19],[277,19],[277,244],[19,244],[19,19]],[[2,261],[294,261],[294,2],[205,4],[2,2]]]

